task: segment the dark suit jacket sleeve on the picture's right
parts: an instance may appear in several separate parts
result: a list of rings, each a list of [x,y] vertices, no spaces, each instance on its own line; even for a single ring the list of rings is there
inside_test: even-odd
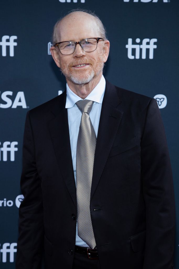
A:
[[[144,269],[173,268],[174,192],[170,158],[160,111],[150,101],[141,141],[143,194],[146,208]]]

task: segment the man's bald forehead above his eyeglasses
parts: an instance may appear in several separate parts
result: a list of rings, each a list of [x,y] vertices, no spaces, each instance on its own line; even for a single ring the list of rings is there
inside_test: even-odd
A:
[[[98,25],[96,18],[85,12],[72,12],[65,16],[57,27],[57,35],[60,41],[98,37]],[[94,36],[95,35],[95,36]],[[58,41],[58,42],[60,42]]]

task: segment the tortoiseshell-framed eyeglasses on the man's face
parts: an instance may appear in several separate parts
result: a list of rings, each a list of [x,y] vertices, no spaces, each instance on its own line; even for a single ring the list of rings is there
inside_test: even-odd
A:
[[[61,54],[69,55],[74,53],[76,45],[79,44],[82,49],[86,52],[92,52],[95,51],[98,45],[98,41],[104,41],[101,37],[93,37],[93,38],[85,38],[81,41],[75,42],[75,41],[63,41],[58,42],[54,46],[57,46],[60,49]]]

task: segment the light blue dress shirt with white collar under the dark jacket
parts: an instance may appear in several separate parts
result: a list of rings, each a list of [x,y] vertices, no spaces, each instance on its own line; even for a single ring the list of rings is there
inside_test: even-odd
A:
[[[92,110],[90,112],[90,119],[96,133],[98,134],[98,126],[100,121],[101,106],[104,97],[106,82],[104,76],[102,75],[100,82],[92,90],[92,92],[85,98],[87,100],[94,101]],[[76,184],[76,146],[78,140],[79,125],[81,122],[81,111],[75,104],[77,101],[82,100],[78,95],[76,95],[67,84],[67,99],[65,108],[68,110],[68,125],[70,132],[70,145],[71,145],[71,155],[73,162],[73,170],[75,176]],[[78,236],[78,226],[76,224],[76,246],[89,247],[79,236]]]

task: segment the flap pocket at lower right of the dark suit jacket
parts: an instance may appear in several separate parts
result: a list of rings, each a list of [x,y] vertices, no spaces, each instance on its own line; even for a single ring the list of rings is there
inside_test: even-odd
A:
[[[130,236],[131,246],[134,252],[138,252],[145,247],[145,234],[146,231],[137,233],[136,235]]]

